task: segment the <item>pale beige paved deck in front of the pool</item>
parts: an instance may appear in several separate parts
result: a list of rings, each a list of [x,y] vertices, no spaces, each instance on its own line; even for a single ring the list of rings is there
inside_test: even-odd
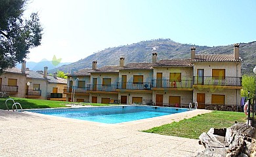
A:
[[[100,124],[0,110],[0,156],[194,156],[204,150],[196,139],[139,130],[209,112],[198,109],[122,124]]]

